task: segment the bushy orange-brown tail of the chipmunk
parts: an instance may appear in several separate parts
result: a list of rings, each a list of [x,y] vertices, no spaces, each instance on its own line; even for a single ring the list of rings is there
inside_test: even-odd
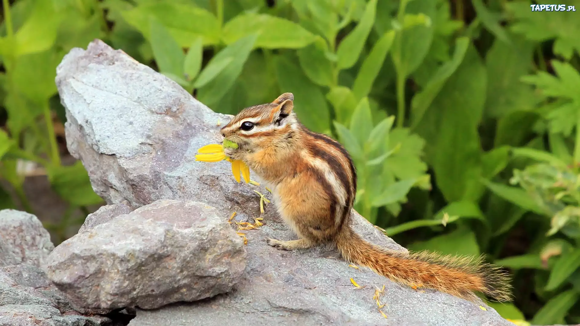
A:
[[[483,256],[386,251],[362,240],[350,228],[336,238],[336,246],[347,261],[367,266],[402,284],[437,289],[472,302],[477,299],[473,292],[482,292],[498,301],[511,299],[509,278],[498,267],[484,263]]]

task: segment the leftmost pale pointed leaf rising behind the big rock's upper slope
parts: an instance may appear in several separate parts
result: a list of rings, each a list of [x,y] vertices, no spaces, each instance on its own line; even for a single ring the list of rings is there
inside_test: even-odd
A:
[[[171,37],[169,31],[153,17],[150,19],[150,29],[151,48],[160,72],[183,78],[185,55],[182,48]]]

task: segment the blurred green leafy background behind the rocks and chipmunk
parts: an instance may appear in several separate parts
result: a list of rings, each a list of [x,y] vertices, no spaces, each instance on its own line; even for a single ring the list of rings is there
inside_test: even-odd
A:
[[[55,69],[100,38],[215,111],[295,95],[409,249],[513,275],[511,320],[580,323],[580,1],[2,0],[0,209],[58,244],[103,201],[67,153]]]

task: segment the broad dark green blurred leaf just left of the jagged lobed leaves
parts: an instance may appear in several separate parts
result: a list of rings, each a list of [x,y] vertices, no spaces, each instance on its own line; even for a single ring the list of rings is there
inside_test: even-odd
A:
[[[503,117],[513,111],[530,111],[538,103],[534,90],[520,81],[532,66],[532,42],[514,38],[512,44],[496,39],[487,52],[487,100],[485,114]]]

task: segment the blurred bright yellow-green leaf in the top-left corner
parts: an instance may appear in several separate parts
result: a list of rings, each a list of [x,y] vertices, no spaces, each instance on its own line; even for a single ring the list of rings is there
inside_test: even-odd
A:
[[[36,0],[34,10],[16,32],[16,57],[41,52],[55,44],[56,32],[61,16],[55,11],[52,1]]]

